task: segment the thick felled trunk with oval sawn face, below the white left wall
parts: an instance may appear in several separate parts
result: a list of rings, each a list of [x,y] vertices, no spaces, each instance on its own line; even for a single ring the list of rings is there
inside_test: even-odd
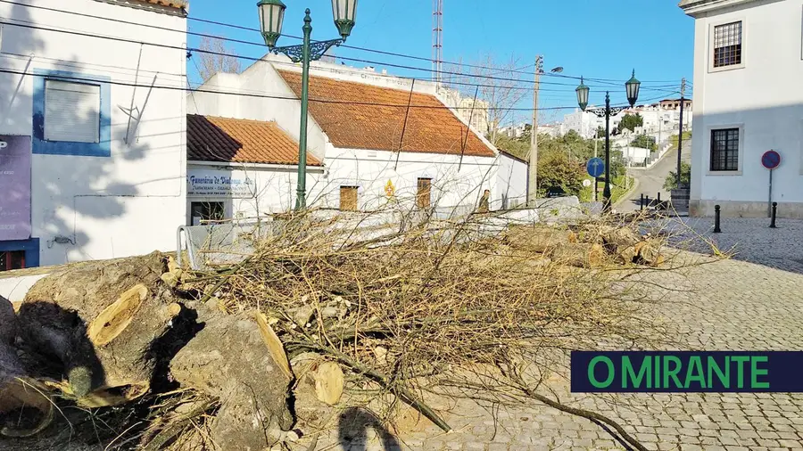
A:
[[[170,329],[177,299],[161,281],[159,252],[86,262],[48,275],[20,307],[25,346],[57,357],[76,398],[115,405],[147,391],[156,359],[153,345]],[[123,396],[106,396],[106,393]]]

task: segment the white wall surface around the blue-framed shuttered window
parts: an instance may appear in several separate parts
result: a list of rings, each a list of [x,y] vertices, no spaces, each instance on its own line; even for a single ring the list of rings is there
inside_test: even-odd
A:
[[[186,52],[102,36],[183,47],[186,19],[154,12],[154,8],[175,10],[153,5],[137,9],[95,0],[27,3],[59,12],[0,4],[0,17],[3,21],[23,25],[33,22],[37,27],[67,28],[90,36],[4,25],[0,67],[27,74],[34,70],[62,70],[112,79],[111,156],[32,157],[32,234],[40,239],[40,264],[175,249],[176,227],[185,218],[185,94],[113,83],[186,86]],[[34,78],[0,73],[0,135],[32,134]],[[137,120],[129,123],[124,111],[132,105],[135,119],[141,115],[136,132]],[[56,235],[68,237],[75,244],[51,242]]]

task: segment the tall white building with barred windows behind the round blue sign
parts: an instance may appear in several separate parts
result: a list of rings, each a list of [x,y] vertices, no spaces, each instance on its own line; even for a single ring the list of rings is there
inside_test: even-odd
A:
[[[803,217],[801,0],[683,0],[695,19],[693,215]]]

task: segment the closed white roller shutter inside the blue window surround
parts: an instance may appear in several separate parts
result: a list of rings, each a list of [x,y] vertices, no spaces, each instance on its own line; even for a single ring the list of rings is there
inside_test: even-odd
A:
[[[100,86],[46,80],[45,139],[97,143],[100,135]]]

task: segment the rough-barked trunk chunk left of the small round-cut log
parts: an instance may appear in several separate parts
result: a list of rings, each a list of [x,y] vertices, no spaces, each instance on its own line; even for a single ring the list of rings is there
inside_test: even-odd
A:
[[[294,424],[287,404],[293,378],[284,349],[273,346],[252,315],[192,307],[204,326],[170,361],[172,377],[220,399],[211,439],[221,449],[271,447]]]

